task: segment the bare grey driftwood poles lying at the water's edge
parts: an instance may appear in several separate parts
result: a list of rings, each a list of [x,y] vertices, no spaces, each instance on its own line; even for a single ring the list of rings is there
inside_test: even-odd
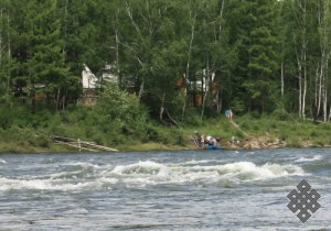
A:
[[[81,141],[79,139],[72,139],[72,138],[63,138],[58,135],[51,135],[50,140],[57,144],[65,144],[68,146],[73,146],[79,150],[86,150],[89,152],[99,152],[99,151],[106,151],[106,152],[118,152],[118,150],[110,148],[108,146],[98,145],[95,142],[88,142],[88,141]]]

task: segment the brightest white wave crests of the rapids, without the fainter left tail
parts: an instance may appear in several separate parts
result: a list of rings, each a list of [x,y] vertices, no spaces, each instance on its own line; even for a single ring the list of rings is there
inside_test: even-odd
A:
[[[113,175],[111,175],[113,174]],[[162,165],[154,162],[139,162],[116,166],[108,176],[120,176],[126,183],[163,184],[163,183],[215,183],[223,179],[233,182],[265,180],[291,175],[305,175],[296,165],[265,164],[257,166],[252,162],[236,162],[212,166]]]

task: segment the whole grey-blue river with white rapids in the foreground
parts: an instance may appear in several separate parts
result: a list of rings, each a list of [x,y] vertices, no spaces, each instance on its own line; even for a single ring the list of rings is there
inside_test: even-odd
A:
[[[321,208],[301,222],[306,179]],[[0,230],[331,230],[331,150],[0,155]]]

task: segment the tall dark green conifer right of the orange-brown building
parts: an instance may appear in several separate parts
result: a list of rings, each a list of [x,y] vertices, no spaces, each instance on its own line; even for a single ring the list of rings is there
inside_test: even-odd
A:
[[[243,87],[248,94],[248,110],[261,112],[273,110],[270,98],[277,89],[275,74],[278,68],[275,53],[277,37],[274,31],[276,1],[256,0],[247,2],[246,14],[246,79]]]

